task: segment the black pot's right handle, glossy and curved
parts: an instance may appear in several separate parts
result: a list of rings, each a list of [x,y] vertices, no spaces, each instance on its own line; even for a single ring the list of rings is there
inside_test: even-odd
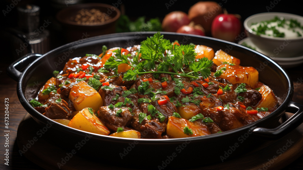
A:
[[[251,129],[252,133],[263,138],[280,138],[285,134],[288,134],[303,122],[303,105],[290,101],[286,108],[286,112],[295,114],[276,128],[268,129],[257,127]]]

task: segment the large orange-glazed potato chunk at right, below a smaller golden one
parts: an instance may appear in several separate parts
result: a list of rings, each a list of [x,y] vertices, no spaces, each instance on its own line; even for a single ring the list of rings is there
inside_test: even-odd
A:
[[[223,70],[223,73],[219,77],[228,80],[232,84],[245,83],[255,88],[259,81],[259,72],[253,67],[222,64],[217,67],[217,70],[223,67],[226,67],[226,70]]]

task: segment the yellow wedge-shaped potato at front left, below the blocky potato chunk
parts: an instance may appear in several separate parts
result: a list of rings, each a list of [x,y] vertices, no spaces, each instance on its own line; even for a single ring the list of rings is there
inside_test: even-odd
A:
[[[67,126],[96,134],[108,135],[110,133],[102,121],[95,114],[91,113],[88,108],[79,111]]]

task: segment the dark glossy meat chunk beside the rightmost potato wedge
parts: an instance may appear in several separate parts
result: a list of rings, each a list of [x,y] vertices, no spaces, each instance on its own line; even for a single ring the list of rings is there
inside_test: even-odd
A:
[[[257,90],[247,90],[246,92],[239,93],[239,96],[244,97],[242,101],[245,106],[255,107],[262,99],[262,94]]]

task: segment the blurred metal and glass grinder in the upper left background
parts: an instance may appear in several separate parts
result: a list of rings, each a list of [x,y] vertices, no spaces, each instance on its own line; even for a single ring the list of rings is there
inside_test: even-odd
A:
[[[49,51],[49,31],[46,29],[51,22],[44,20],[40,25],[40,7],[25,5],[17,8],[18,27],[26,36],[34,53],[44,54]],[[26,46],[28,44],[23,44]]]

